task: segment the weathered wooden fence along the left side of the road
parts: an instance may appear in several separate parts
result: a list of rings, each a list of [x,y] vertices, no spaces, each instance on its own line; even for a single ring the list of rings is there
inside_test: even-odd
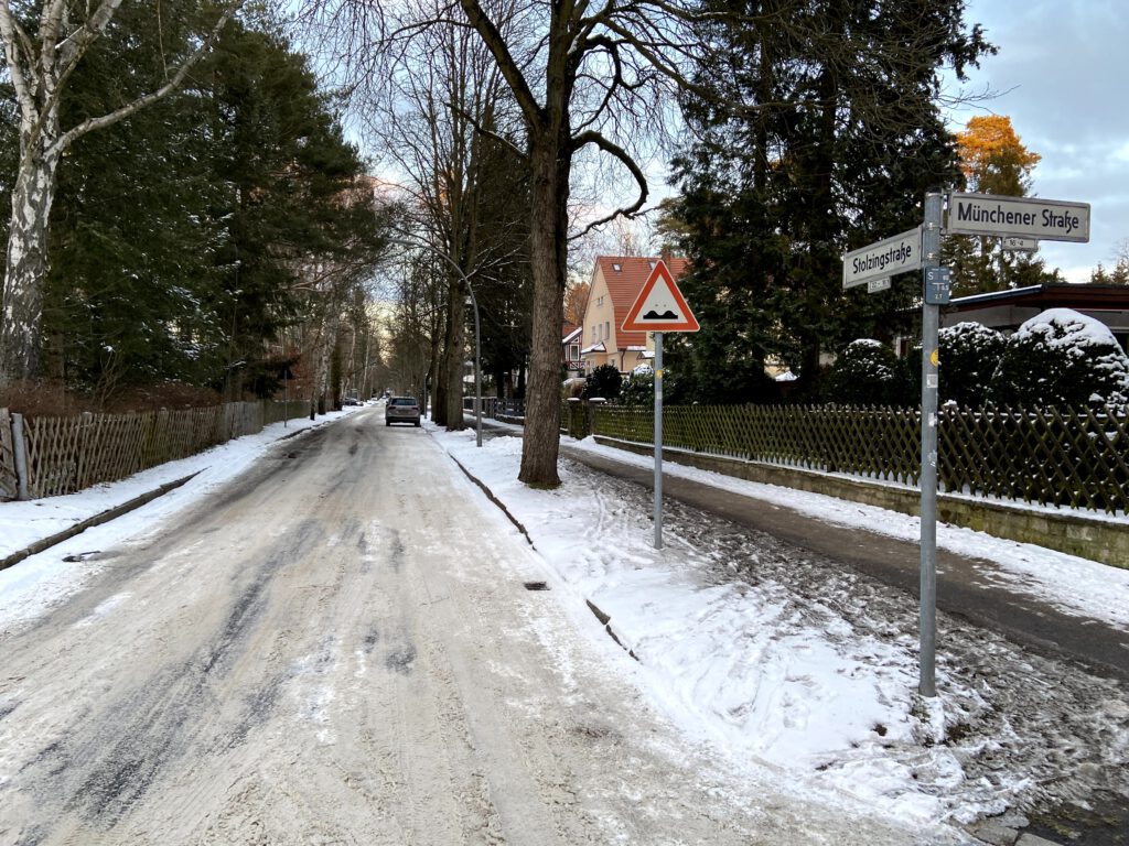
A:
[[[202,452],[268,423],[304,416],[300,403],[228,403],[183,411],[25,417],[23,450],[28,495],[75,493],[166,461]],[[0,409],[0,497],[18,491],[14,426]]]

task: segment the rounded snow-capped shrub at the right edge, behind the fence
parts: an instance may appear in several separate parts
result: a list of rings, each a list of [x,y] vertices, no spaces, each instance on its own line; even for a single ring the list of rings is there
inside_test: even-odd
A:
[[[1010,338],[992,376],[990,398],[1003,405],[1124,406],[1129,356],[1109,327],[1067,308],[1036,315]]]

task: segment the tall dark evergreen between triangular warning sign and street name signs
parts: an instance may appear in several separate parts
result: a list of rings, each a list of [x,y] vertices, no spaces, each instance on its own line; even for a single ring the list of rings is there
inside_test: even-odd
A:
[[[671,358],[692,398],[755,399],[769,361],[812,395],[821,351],[898,328],[917,277],[844,293],[841,256],[920,222],[926,190],[956,177],[936,69],[962,73],[990,49],[957,0],[811,3],[790,17],[805,38],[760,25],[764,8],[711,5],[749,20],[716,26],[729,62],[700,82],[744,108],[688,98],[695,141],[674,162],[672,228],[692,262],[680,285],[702,331],[674,338]]]

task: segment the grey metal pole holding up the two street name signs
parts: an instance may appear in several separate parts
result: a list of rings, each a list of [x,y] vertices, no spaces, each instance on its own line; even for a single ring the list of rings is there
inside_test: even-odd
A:
[[[921,239],[921,654],[918,691],[937,695],[935,654],[937,647],[937,386],[940,302],[947,300],[931,288],[940,266],[943,196],[925,196],[925,229]],[[933,273],[930,273],[933,271]],[[942,283],[943,285],[947,284]]]

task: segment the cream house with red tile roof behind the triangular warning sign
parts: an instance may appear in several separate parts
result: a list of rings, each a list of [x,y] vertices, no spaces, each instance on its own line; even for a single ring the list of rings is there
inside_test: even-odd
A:
[[[655,356],[655,340],[647,332],[623,332],[620,326],[634,305],[658,256],[598,256],[592,271],[588,307],[584,312],[580,358],[585,372],[602,364],[612,364],[621,373],[630,373],[639,364],[649,364]],[[677,282],[686,272],[685,258],[664,256],[671,275]]]

